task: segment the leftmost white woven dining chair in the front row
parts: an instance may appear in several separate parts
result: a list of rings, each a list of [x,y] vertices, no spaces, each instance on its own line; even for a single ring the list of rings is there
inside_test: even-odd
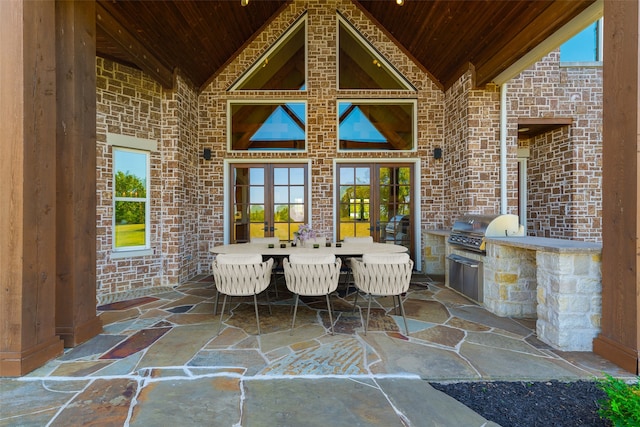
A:
[[[220,334],[220,330],[222,329],[222,316],[224,315],[227,296],[253,295],[253,304],[256,310],[256,324],[258,325],[258,335],[260,335],[260,316],[258,315],[257,295],[269,287],[272,267],[273,259],[269,258],[266,261],[262,261],[262,255],[260,254],[219,254],[216,257],[211,266],[213,280],[218,290],[214,314],[218,308],[219,294],[224,295],[218,334]],[[268,294],[267,302],[269,302]],[[270,303],[269,313],[271,313]]]

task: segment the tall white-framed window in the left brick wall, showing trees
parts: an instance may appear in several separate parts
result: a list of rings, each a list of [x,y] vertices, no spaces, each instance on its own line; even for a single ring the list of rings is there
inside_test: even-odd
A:
[[[148,249],[149,152],[113,147],[113,248]]]

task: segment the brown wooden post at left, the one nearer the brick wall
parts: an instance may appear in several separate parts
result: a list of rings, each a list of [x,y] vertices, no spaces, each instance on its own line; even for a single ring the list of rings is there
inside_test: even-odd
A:
[[[56,1],[56,332],[102,332],[96,314],[95,2]]]

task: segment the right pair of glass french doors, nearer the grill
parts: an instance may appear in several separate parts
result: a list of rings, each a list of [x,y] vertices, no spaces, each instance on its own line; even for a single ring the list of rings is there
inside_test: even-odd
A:
[[[413,253],[414,165],[338,165],[338,239],[372,236]]]

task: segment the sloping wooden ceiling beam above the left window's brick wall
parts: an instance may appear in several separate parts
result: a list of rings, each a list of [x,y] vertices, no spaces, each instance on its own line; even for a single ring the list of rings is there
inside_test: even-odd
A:
[[[96,2],[96,25],[120,45],[142,71],[153,77],[165,89],[173,89],[174,81],[171,67],[164,64],[144,47],[98,2]]]

